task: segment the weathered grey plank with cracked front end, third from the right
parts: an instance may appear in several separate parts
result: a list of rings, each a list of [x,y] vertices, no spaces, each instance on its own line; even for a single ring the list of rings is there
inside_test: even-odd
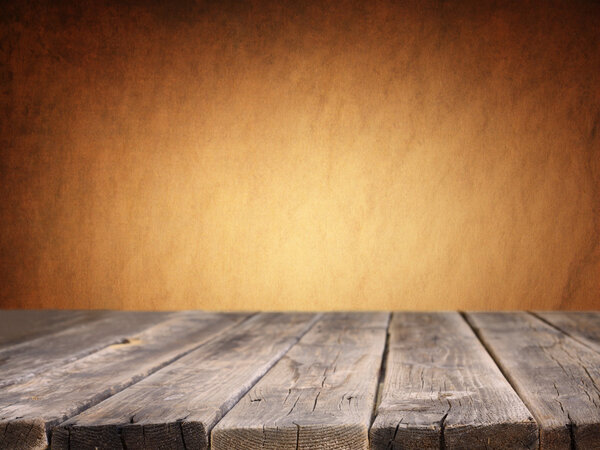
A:
[[[537,437],[458,313],[394,313],[372,449],[536,448]]]

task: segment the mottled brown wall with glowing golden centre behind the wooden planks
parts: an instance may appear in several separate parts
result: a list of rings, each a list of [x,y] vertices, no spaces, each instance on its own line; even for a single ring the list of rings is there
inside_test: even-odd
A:
[[[600,308],[598,2],[124,3],[2,2],[0,306]]]

